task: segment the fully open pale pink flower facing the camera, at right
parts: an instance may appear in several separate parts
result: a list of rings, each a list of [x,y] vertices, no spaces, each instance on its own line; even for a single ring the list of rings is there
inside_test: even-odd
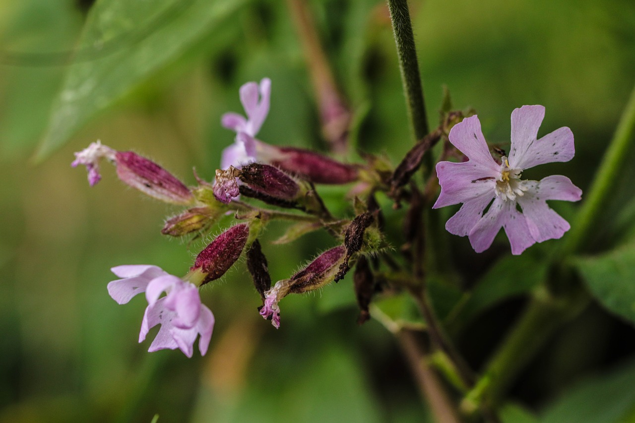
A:
[[[554,175],[540,181],[521,180],[523,170],[569,161],[575,153],[569,128],[537,139],[544,116],[542,105],[525,105],[512,112],[511,151],[501,163],[492,158],[477,116],[467,117],[450,131],[450,142],[469,161],[437,164],[441,194],[433,208],[463,203],[445,227],[452,234],[467,235],[478,253],[490,248],[501,227],[514,255],[534,243],[561,238],[570,228],[546,203],[580,199],[582,191],[569,178]]]

